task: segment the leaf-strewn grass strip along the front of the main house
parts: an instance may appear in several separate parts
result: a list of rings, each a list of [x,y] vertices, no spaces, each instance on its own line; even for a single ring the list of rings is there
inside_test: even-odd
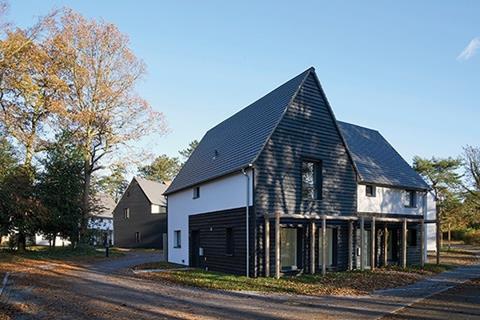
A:
[[[424,269],[398,267],[375,271],[330,272],[326,276],[301,275],[295,277],[247,278],[199,269],[171,270],[142,274],[157,281],[188,285],[199,288],[277,292],[303,295],[361,295],[378,289],[398,287],[413,283],[427,275],[449,269],[448,266],[426,265]]]

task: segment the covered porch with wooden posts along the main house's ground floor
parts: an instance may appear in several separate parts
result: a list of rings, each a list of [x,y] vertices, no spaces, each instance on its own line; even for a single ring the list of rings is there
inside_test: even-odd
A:
[[[264,276],[425,263],[423,216],[267,215],[262,229]]]

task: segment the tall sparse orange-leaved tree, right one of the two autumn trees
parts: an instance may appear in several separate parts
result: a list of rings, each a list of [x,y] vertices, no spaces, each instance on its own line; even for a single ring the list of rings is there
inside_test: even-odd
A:
[[[163,115],[135,92],[145,65],[129,48],[115,25],[64,12],[54,40],[56,58],[68,84],[68,127],[75,134],[84,161],[83,219],[86,233],[91,182],[101,161],[120,146],[152,132],[166,130]],[[130,150],[130,156],[132,155]]]

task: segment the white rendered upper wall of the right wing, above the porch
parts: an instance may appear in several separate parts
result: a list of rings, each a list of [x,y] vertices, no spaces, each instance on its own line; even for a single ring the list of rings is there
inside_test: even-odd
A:
[[[386,213],[386,214],[423,214],[423,192],[417,192],[417,207],[409,208],[404,205],[404,189],[376,187],[376,196],[367,197],[365,185],[357,185],[358,212]]]

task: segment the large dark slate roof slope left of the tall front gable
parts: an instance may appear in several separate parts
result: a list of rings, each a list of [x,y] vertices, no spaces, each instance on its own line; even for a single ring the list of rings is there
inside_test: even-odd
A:
[[[214,179],[252,164],[310,68],[210,129],[165,192]]]

